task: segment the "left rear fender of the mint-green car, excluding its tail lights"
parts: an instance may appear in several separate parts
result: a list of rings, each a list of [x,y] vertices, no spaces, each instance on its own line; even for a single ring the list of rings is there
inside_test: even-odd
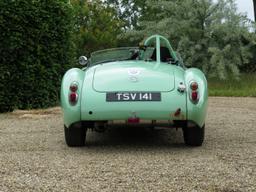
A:
[[[72,123],[81,120],[81,89],[83,87],[83,79],[85,72],[78,68],[73,68],[68,70],[61,83],[61,107],[64,114],[64,124],[69,127]],[[75,105],[69,102],[69,87],[72,82],[77,82],[78,84],[78,101]]]

